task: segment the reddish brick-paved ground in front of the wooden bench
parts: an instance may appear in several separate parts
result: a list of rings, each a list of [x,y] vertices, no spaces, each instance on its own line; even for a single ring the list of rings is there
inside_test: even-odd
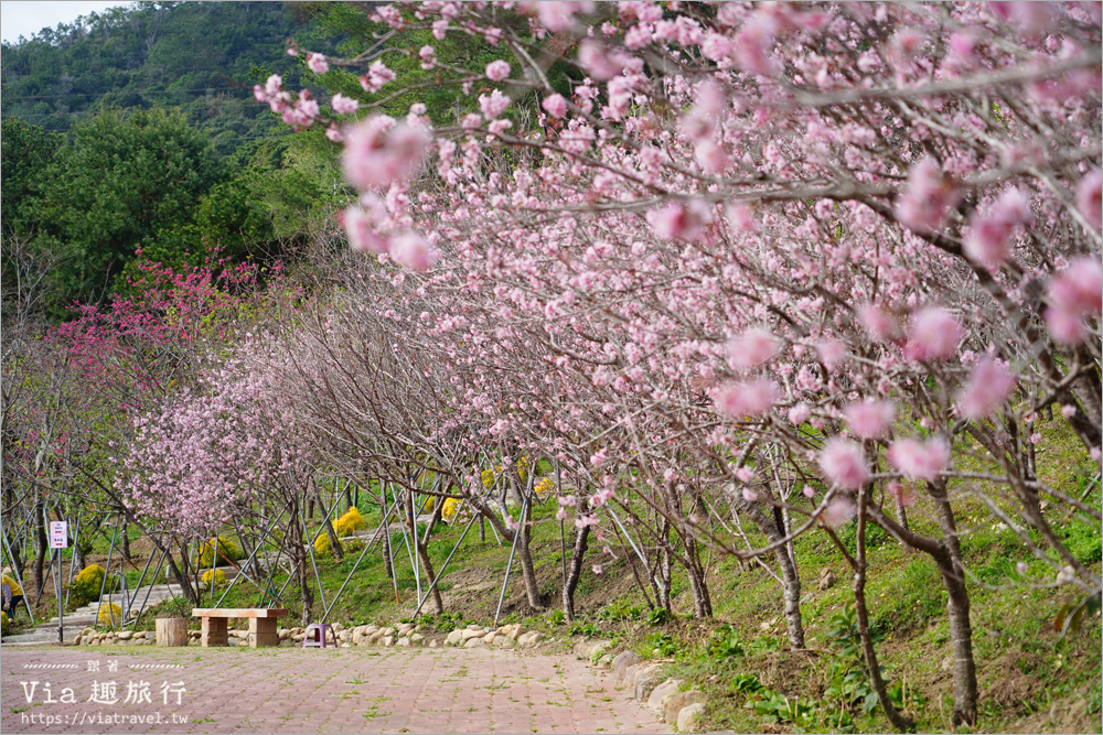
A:
[[[99,671],[89,671],[89,662]],[[451,648],[6,646],[0,669],[3,733],[672,732],[608,673],[574,657]],[[40,683],[32,690],[33,681]],[[104,684],[111,681],[116,703],[89,701],[98,688],[98,699],[110,702]],[[149,702],[141,699],[142,682]],[[186,690],[179,705],[171,690],[178,682]],[[162,692],[165,683],[170,690]],[[65,688],[76,703],[61,701]],[[60,701],[46,702],[51,696]]]

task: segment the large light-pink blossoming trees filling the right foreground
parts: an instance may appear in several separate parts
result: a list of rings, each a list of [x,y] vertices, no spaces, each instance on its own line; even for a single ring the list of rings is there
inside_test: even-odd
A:
[[[580,532],[635,516],[702,615],[700,545],[772,554],[794,647],[792,540],[856,518],[857,552],[839,549],[875,684],[877,525],[942,575],[959,722],[976,682],[956,497],[1099,594],[1041,508],[1100,512],[1036,466],[1052,412],[1100,460],[1097,3],[422,2],[372,20],[439,84],[490,91],[435,129],[424,106],[372,109],[389,97],[343,128],[317,107],[295,120],[345,141],[349,242],[382,264],[356,278],[388,284],[334,305],[333,338],[382,320],[406,368],[379,379],[432,397],[416,437],[396,417],[371,442],[554,458],[588,488],[564,499]],[[403,47],[418,29],[512,61]],[[555,64],[577,71],[569,89]],[[393,84],[382,61],[365,72],[367,91]],[[278,82],[258,99],[297,105]],[[908,523],[918,495],[933,536]]]

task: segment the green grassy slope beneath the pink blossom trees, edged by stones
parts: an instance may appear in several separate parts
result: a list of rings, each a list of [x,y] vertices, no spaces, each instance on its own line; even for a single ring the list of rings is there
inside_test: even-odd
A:
[[[1057,431],[1057,423],[1050,424]],[[1051,444],[1052,445],[1052,444]],[[1084,485],[1091,465],[1073,442],[1057,443],[1048,457],[1040,457],[1043,476],[1058,487],[1089,489],[1086,500],[1100,507],[1097,483]],[[506,591],[504,621],[523,620],[544,629],[561,650],[579,636],[612,638],[617,645],[645,659],[665,661],[670,675],[684,678],[687,685],[709,693],[709,725],[735,732],[890,732],[869,693],[860,662],[853,651],[854,618],[850,612],[850,574],[822,533],[796,542],[796,559],[804,594],[802,612],[806,628],[806,650],[788,650],[782,617],[781,586],[756,565],[714,558],[708,580],[716,617],[698,621],[690,617],[692,599],[684,579],[675,577],[674,619],[649,615],[634,576],[628,568],[630,549],[613,551],[619,559],[606,563],[599,576],[590,560],[577,593],[580,617],[564,620],[558,612],[561,579],[559,522],[554,501],[538,506],[534,518],[533,558],[540,583],[553,601],[549,610],[528,609],[520,579],[520,564]],[[1031,560],[1014,534],[987,514],[983,505],[956,488],[955,505],[962,531],[965,562],[974,575],[970,583],[973,644],[981,689],[979,732],[1100,732],[1101,636],[1099,616],[1078,633],[1062,637],[1053,627],[1061,605],[1072,598],[1068,586],[1052,584],[1052,575]],[[378,511],[361,504],[368,528],[378,526]],[[917,502],[910,522],[919,531],[935,525],[933,509]],[[1074,518],[1063,518],[1056,508],[1047,509],[1049,520],[1065,536],[1074,553],[1100,571],[1100,529]],[[317,528],[318,519],[313,526]],[[464,523],[440,525],[429,550],[438,565],[451,552]],[[424,528],[421,529],[424,531]],[[567,528],[567,554],[574,529]],[[854,543],[854,526],[839,532],[844,543]],[[395,533],[396,582],[384,571],[376,545],[365,556],[349,587],[336,603],[331,620],[346,624],[393,623],[409,618],[416,606],[417,582],[403,536]],[[920,732],[952,731],[953,682],[949,663],[950,631],[945,617],[946,596],[934,564],[877,529],[868,534],[870,579],[867,585],[872,621],[877,629],[878,655],[890,690]],[[141,549],[136,544],[136,549]],[[600,547],[598,547],[600,549]],[[591,547],[591,553],[598,549]],[[97,555],[106,554],[106,542],[97,540]],[[460,545],[442,576],[447,614],[425,616],[422,621],[438,630],[450,630],[467,621],[489,624],[497,604],[510,548],[500,544],[488,527],[481,537],[476,523]],[[116,552],[117,553],[117,552]],[[319,572],[326,602],[352,571],[358,553],[343,561],[320,556]],[[142,554],[139,553],[139,564]],[[1030,564],[1025,584],[1016,563]],[[827,570],[836,577],[821,585]],[[130,572],[131,583],[137,571]],[[277,587],[286,577],[278,575]],[[425,581],[422,580],[422,585]],[[396,587],[398,599],[396,602]],[[221,596],[223,591],[216,591]],[[315,593],[317,597],[317,593]],[[263,602],[256,587],[244,581],[223,603],[255,606]],[[283,603],[291,608],[281,625],[297,625],[300,601],[295,583],[287,586]],[[206,601],[204,601],[206,604]],[[52,601],[42,603],[43,612]],[[190,613],[183,601],[175,605]],[[315,602],[315,612],[320,610]],[[151,610],[140,628],[151,629]],[[320,613],[315,614],[315,618]]]

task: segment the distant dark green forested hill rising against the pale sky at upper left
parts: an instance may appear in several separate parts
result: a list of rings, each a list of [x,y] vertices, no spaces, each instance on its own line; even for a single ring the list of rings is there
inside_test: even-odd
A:
[[[317,4],[317,3],[315,3]],[[300,83],[285,52],[310,34],[302,2],[136,2],[2,46],[3,117],[67,131],[97,110],[179,108],[217,153],[275,125],[253,100],[269,73]],[[328,45],[312,40],[312,47]]]

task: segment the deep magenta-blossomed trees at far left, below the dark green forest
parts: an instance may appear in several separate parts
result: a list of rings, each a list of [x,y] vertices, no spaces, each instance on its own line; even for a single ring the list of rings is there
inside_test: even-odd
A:
[[[195,379],[203,359],[236,341],[258,272],[216,257],[179,272],[138,260],[132,295],[76,305],[74,318],[50,326],[36,314],[44,293],[36,275],[51,263],[36,260],[19,241],[7,247],[20,271],[17,288],[4,294],[3,505],[12,521],[7,542],[22,573],[20,548],[30,532],[35,556],[28,576],[38,590],[50,517],[69,520],[77,537],[76,566],[84,565],[97,531],[121,540],[124,559],[130,556],[126,529],[131,523],[146,528],[150,522],[159,551],[173,544],[176,529],[164,514],[144,514],[124,502],[119,463],[130,456],[131,417],[160,406]],[[140,441],[133,446],[144,448]],[[184,507],[172,493],[161,504],[163,511]],[[113,515],[121,534],[100,528]],[[171,558],[169,563],[180,571]],[[185,584],[185,590],[191,587]]]

